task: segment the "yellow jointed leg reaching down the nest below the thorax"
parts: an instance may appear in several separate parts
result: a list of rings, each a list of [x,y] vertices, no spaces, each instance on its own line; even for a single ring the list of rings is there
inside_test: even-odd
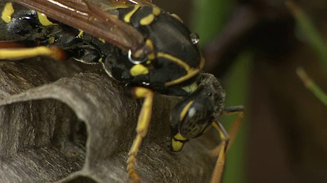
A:
[[[152,113],[153,92],[150,89],[136,86],[132,89],[132,93],[135,98],[144,98],[144,102],[138,116],[136,136],[128,153],[127,171],[132,182],[140,182],[139,176],[135,171],[135,161],[139,146],[148,133]]]

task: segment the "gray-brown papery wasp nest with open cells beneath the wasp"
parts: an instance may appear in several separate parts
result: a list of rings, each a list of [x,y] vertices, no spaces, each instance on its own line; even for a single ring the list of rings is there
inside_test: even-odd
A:
[[[0,62],[0,182],[128,182],[126,161],[142,100],[104,71],[37,57]],[[167,148],[176,98],[155,95],[137,155],[142,182],[208,182],[217,143]]]

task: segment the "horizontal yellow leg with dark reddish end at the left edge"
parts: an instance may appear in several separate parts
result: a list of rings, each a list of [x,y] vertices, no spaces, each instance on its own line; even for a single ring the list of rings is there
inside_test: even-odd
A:
[[[67,54],[65,50],[52,46],[37,46],[33,48],[1,48],[0,49],[0,59],[21,59],[33,56],[50,56],[57,60],[66,60]]]

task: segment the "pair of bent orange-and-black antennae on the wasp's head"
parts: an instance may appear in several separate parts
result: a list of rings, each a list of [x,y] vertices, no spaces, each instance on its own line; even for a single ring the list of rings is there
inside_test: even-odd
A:
[[[226,132],[226,130],[220,123],[218,123],[216,121],[213,122],[213,126],[218,130],[220,138],[221,138],[221,143],[217,146],[217,148],[215,148],[211,152],[209,152],[209,154],[211,154],[211,155],[218,155],[217,163],[216,163],[213,178],[212,178],[213,183],[220,182],[220,180],[221,180],[224,165],[225,165],[226,151],[230,147],[230,144],[233,142],[233,140],[236,137],[237,131],[241,125],[241,121],[244,116],[244,112],[245,112],[245,110],[244,110],[243,106],[228,107],[228,108],[223,109],[223,111],[221,113],[222,115],[238,114],[232,127],[229,130],[229,133]]]

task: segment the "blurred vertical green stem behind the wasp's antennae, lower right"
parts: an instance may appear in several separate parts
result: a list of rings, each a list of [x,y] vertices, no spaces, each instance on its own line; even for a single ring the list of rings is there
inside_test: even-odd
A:
[[[244,105],[245,117],[237,137],[227,152],[226,166],[222,182],[246,182],[247,169],[247,114],[249,114],[249,71],[251,68],[252,53],[243,52],[237,57],[223,85],[226,90],[225,106]],[[223,116],[221,122],[228,129],[235,120],[235,115]]]

